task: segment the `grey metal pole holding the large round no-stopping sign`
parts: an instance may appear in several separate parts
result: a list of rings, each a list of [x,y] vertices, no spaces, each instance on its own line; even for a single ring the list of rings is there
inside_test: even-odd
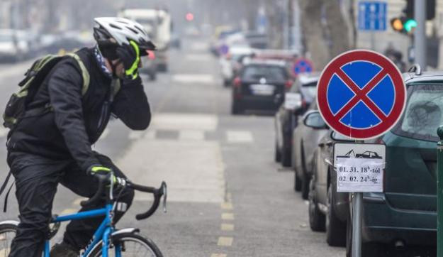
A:
[[[364,143],[364,141],[356,140],[355,143]],[[363,204],[363,193],[354,192],[352,204],[352,257],[361,257],[361,204]]]

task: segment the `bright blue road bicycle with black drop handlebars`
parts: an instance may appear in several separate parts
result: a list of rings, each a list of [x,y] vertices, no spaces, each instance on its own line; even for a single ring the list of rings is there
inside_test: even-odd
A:
[[[142,214],[135,216],[136,219],[147,219],[155,213],[159,207],[161,197],[163,196],[163,209],[166,212],[166,199],[167,199],[167,186],[165,182],[159,188],[145,187],[142,185],[136,185],[130,180],[123,178],[116,178],[116,182],[110,179],[113,177],[110,175],[97,175],[99,179],[99,189],[96,194],[90,199],[81,202],[82,206],[95,203],[101,199],[103,194],[106,194],[106,206],[102,209],[94,209],[86,212],[79,212],[76,214],[68,214],[63,216],[55,215],[52,217],[50,227],[50,234],[45,241],[45,249],[43,257],[50,257],[50,244],[49,241],[57,234],[60,228],[60,222],[67,222],[74,219],[89,219],[92,217],[104,216],[103,222],[94,233],[91,239],[91,243],[82,252],[82,257],[108,257],[108,256],[153,256],[162,257],[162,252],[154,244],[153,241],[147,239],[144,236],[140,236],[139,229],[127,228],[116,229],[113,224],[114,212],[122,206],[118,204],[118,197],[113,196],[113,187],[118,185],[120,187],[130,187],[134,190],[141,192],[149,192],[154,195],[154,202],[150,209]],[[11,241],[16,235],[18,222],[9,220],[0,222],[0,257],[8,256],[11,249]]]

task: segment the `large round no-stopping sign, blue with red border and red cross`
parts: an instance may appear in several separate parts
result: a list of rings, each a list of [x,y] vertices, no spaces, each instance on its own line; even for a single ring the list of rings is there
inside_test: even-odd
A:
[[[325,67],[317,102],[333,130],[354,139],[375,138],[400,119],[406,87],[391,60],[373,51],[352,50]]]

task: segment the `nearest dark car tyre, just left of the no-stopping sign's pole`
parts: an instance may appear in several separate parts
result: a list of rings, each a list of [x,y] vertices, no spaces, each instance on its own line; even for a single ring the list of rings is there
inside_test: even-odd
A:
[[[346,246],[346,224],[335,216],[333,185],[327,189],[326,241],[330,246]]]

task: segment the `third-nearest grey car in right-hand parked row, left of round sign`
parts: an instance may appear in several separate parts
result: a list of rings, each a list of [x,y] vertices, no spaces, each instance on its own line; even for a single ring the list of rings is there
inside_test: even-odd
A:
[[[309,182],[312,177],[314,151],[320,139],[327,133],[327,126],[312,128],[306,124],[324,124],[319,115],[309,116],[318,111],[314,100],[304,116],[298,116],[298,125],[293,130],[292,166],[294,170],[294,190],[301,191],[301,197],[308,199]]]

